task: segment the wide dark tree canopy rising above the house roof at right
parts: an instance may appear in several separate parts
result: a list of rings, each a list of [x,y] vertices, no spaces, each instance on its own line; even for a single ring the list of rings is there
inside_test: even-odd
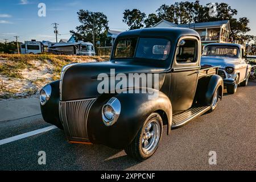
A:
[[[210,16],[210,6],[216,7],[216,16]],[[171,23],[199,23],[213,22],[219,20],[229,20],[230,22],[230,38],[242,40],[243,35],[250,31],[248,26],[249,19],[246,17],[235,18],[237,10],[232,9],[227,3],[208,3],[206,6],[200,5],[200,1],[195,2],[175,2],[171,5],[162,5],[156,10],[156,14],[148,15],[144,20],[146,27],[154,26],[157,22],[164,19]]]

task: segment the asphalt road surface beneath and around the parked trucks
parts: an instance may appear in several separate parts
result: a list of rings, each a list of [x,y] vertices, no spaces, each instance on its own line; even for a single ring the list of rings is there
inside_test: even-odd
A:
[[[0,123],[0,140],[50,126],[41,115]],[[166,129],[166,127],[165,127]],[[152,158],[138,163],[124,151],[69,144],[55,129],[0,146],[1,170],[255,170],[256,82],[225,94],[216,111],[194,119],[170,136],[164,133]],[[46,152],[46,165],[38,152]],[[209,152],[217,164],[210,165]]]

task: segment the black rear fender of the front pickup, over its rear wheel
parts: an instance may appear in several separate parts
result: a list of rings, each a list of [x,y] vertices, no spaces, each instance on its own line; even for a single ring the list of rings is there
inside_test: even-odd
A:
[[[219,97],[222,100],[224,92],[224,81],[222,77],[212,75],[201,78],[197,84],[195,101],[198,101],[201,105],[212,104],[213,94],[217,88],[220,88]]]

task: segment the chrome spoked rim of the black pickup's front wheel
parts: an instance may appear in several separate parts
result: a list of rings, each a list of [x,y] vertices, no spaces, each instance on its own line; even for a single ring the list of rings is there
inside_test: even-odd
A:
[[[160,139],[160,124],[158,121],[151,121],[144,128],[141,145],[144,154],[150,154],[158,146]]]

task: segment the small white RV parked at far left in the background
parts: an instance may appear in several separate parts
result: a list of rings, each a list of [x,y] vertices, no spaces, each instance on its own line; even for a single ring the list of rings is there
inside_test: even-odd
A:
[[[26,41],[24,44],[20,44],[20,52],[22,54],[36,55],[44,52],[44,45],[36,40]]]

